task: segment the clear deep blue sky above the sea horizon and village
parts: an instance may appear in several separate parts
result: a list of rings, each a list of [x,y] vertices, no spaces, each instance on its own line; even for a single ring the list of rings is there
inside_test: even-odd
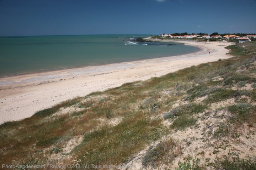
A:
[[[256,33],[256,0],[0,0],[0,36]]]

